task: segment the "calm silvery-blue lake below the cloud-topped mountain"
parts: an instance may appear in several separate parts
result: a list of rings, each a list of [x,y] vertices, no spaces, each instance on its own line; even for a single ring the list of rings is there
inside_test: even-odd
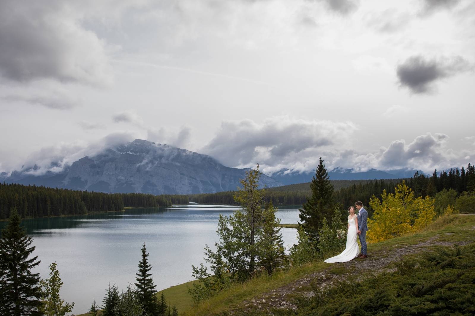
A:
[[[297,223],[300,206],[283,206],[281,223]],[[29,219],[22,222],[41,260],[34,272],[48,276],[57,262],[64,282],[61,297],[75,302],[73,313],[87,312],[93,299],[102,305],[107,284],[119,291],[135,282],[141,245],[145,242],[157,290],[190,281],[191,265],[203,262],[203,247],[217,241],[219,214],[235,206],[175,205],[126,209],[84,216]],[[0,223],[3,228],[6,223]],[[296,242],[296,230],[282,228],[286,245]],[[214,248],[214,247],[213,247]]]

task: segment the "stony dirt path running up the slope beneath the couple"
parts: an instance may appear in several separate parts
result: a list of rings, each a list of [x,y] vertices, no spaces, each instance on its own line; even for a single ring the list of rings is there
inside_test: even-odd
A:
[[[358,271],[371,271],[372,273],[380,273],[384,270],[388,271],[394,268],[389,267],[390,263],[400,259],[401,256],[417,253],[423,248],[433,245],[451,246],[455,243],[458,245],[465,245],[468,242],[441,242],[436,241],[437,236],[429,239],[427,242],[420,242],[416,245],[402,246],[391,251],[377,251],[373,255],[368,255],[366,259],[354,259],[349,262],[328,264],[328,268],[307,274],[302,279],[297,279],[283,287],[276,288],[272,291],[263,293],[250,300],[245,300],[237,305],[236,310],[244,313],[251,313],[253,310],[269,311],[271,308],[288,308],[296,309],[292,303],[292,296],[295,293],[312,296],[314,293],[310,291],[310,283],[316,280],[320,288],[325,288],[333,285],[333,283],[348,276],[356,276]],[[333,271],[332,271],[333,270]],[[356,278],[358,280],[358,278]],[[231,311],[230,314],[234,314]]]

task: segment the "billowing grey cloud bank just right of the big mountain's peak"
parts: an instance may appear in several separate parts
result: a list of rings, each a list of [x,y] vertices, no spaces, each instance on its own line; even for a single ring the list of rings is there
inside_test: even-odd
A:
[[[282,167],[314,167],[323,148],[343,141],[356,130],[352,123],[273,117],[262,123],[225,121],[202,151],[229,167],[256,163],[274,172]],[[312,168],[308,167],[308,169]]]

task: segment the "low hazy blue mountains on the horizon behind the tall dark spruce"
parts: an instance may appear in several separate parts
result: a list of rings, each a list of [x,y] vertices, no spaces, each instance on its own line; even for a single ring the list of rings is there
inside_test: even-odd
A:
[[[356,171],[354,169],[345,169],[342,167],[333,168],[328,172],[331,180],[372,180],[372,179],[399,179],[411,178],[416,172],[424,174],[421,170],[415,169],[396,169],[390,171],[381,171],[377,169],[369,169],[367,171]],[[309,182],[312,180],[315,171],[298,172],[289,171],[289,169],[282,169],[272,175],[272,178],[281,182],[284,185],[291,185],[297,183]]]

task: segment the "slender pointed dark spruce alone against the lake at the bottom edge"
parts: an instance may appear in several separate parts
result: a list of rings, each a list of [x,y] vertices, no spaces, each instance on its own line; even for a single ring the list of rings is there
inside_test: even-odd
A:
[[[157,302],[157,291],[155,290],[156,285],[153,284],[152,266],[148,263],[147,248],[145,248],[145,243],[142,245],[142,260],[139,261],[139,273],[136,273],[137,278],[135,279],[137,283],[137,294],[139,301],[142,303],[145,315],[158,316],[158,302]]]

